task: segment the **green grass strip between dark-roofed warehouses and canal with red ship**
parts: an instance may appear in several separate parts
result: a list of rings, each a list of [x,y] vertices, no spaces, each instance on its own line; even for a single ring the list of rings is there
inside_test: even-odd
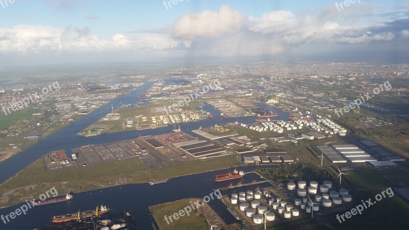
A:
[[[174,176],[212,171],[238,165],[239,163],[237,162],[235,156],[224,156],[214,159],[208,159],[206,161],[154,168],[150,171],[155,179],[165,179]]]

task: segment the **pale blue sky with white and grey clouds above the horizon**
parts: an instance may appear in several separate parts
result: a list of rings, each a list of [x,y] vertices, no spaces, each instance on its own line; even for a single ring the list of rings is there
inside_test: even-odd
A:
[[[351,2],[0,0],[0,66],[409,61],[409,1]]]

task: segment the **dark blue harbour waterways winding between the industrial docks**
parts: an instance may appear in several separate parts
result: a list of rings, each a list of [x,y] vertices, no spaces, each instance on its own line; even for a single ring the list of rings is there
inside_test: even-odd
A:
[[[64,149],[67,153],[70,153],[71,148],[81,147],[88,144],[102,144],[132,139],[139,136],[138,132],[143,136],[172,132],[173,125],[169,125],[161,128],[140,130],[138,132],[136,130],[131,130],[92,137],[82,137],[77,135],[78,132],[82,131],[89,125],[104,117],[107,113],[111,112],[110,104],[112,104],[114,108],[118,108],[122,104],[135,104],[144,100],[138,99],[137,96],[144,90],[148,89],[152,84],[152,82],[144,84],[133,90],[131,93],[125,95],[124,97],[112,100],[107,104],[107,106],[100,107],[92,113],[87,114],[83,118],[67,125],[65,128],[31,146],[25,151],[22,151],[19,154],[16,154],[0,163],[0,182],[6,181],[8,178],[15,175],[20,170],[35,162],[35,160],[51,151]],[[259,105],[270,111],[279,113],[279,116],[275,120],[288,119],[288,113],[283,113],[277,109],[273,109],[262,104]],[[214,124],[225,125],[230,122],[252,124],[255,121],[254,117],[228,118],[224,120],[220,116],[219,110],[206,103],[203,106],[203,110],[212,113],[213,119],[180,124],[181,130],[191,135],[195,135],[191,132],[191,130],[198,129],[199,126],[206,128],[213,126]],[[256,168],[256,166],[239,167],[238,169],[242,169],[247,172],[252,171],[253,168]],[[232,169],[225,169],[219,170],[217,172],[207,172],[183,177],[176,177],[169,179],[166,183],[154,186],[151,186],[148,183],[144,183],[139,185],[125,185],[75,194],[74,199],[67,202],[36,206],[33,209],[29,210],[27,212],[27,215],[17,216],[7,224],[5,224],[3,221],[0,221],[0,229],[33,229],[35,227],[42,227],[45,224],[49,224],[51,222],[51,218],[55,215],[73,213],[78,211],[78,209],[83,211],[92,210],[95,209],[95,206],[101,204],[108,206],[113,212],[123,212],[124,210],[129,209],[132,210],[132,212],[135,214],[135,217],[137,218],[139,228],[143,230],[151,229],[151,222],[153,222],[153,218],[148,210],[148,206],[150,205],[189,197],[202,198],[206,195],[209,195],[209,193],[211,193],[214,189],[230,185],[231,182],[237,183],[239,181],[242,181],[243,183],[248,183],[253,181],[253,179],[261,180],[257,175],[249,174],[241,180],[225,181],[219,183],[214,182],[215,174],[225,173],[231,170]],[[67,177],[69,176],[70,175],[67,175]],[[270,185],[268,183],[263,183],[262,185],[257,186],[226,190],[223,191],[223,193],[231,194],[233,192],[246,191],[248,189],[254,190],[256,187],[262,188],[269,186]],[[24,203],[13,205],[6,209],[1,209],[0,215],[7,215],[11,212],[14,212],[22,204]],[[223,219],[225,219],[227,223],[234,223],[237,221],[226,210],[224,204],[221,201],[212,200],[210,201],[210,205],[213,206],[213,208]]]

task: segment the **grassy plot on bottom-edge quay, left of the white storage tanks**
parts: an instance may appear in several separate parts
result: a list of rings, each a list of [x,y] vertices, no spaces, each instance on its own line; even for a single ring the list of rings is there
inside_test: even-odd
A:
[[[169,203],[158,204],[150,206],[149,210],[154,214],[156,221],[164,230],[208,230],[208,226],[205,223],[205,219],[197,215],[197,211],[193,211],[189,216],[181,216],[173,222],[169,221],[169,224],[165,220],[166,216],[171,216],[174,213],[178,213],[179,210],[183,210],[186,206],[189,206],[188,200],[178,200]]]

